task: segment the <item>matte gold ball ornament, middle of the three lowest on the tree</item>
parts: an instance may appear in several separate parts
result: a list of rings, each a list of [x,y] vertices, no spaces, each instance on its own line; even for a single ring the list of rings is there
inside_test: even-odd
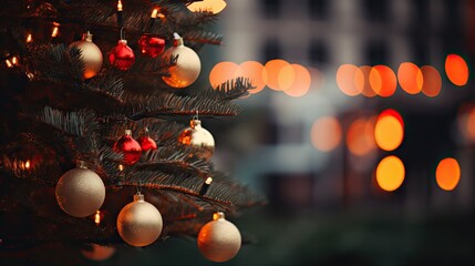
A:
[[[154,243],[162,233],[163,221],[158,209],[145,202],[144,195],[134,195],[117,216],[117,231],[131,246],[142,247]]]

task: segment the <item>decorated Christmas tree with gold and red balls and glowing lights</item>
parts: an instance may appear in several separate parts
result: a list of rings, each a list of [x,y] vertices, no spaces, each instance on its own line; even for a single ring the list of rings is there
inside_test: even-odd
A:
[[[193,2],[1,1],[0,254],[192,236],[211,260],[236,255],[220,212],[262,200],[215,167],[205,127],[252,84],[195,82],[223,37]]]

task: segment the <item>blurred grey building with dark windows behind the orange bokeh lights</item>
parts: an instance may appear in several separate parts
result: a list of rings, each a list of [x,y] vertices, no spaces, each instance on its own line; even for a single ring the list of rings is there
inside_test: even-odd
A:
[[[251,133],[238,126],[239,133],[230,136],[239,149],[247,149],[244,161],[236,164],[236,176],[288,209],[390,206],[419,213],[471,207],[474,155],[459,141],[456,120],[459,105],[475,94],[468,90],[471,79],[462,89],[447,81],[444,62],[448,53],[473,57],[472,11],[473,3],[462,0],[240,0],[228,4],[223,58],[262,64],[283,59],[310,68],[313,79],[300,98],[266,89],[241,102],[247,111],[240,126]],[[351,98],[335,82],[341,64],[384,64],[396,73],[403,62],[437,69],[441,93],[410,95],[397,85],[391,98]],[[351,125],[385,109],[403,116],[402,145],[392,152],[374,147],[364,155],[353,154],[347,145]],[[312,126],[321,117],[339,122],[331,133],[338,145],[331,151],[319,151],[312,143],[318,132]],[[404,162],[405,180],[399,190],[386,193],[379,190],[374,172],[380,160],[391,154]],[[450,193],[434,177],[444,156],[456,157],[462,167],[458,187]]]

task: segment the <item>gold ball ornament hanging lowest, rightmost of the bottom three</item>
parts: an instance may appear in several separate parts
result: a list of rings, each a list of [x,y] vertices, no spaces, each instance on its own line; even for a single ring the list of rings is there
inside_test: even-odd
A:
[[[219,212],[198,233],[198,248],[203,256],[216,263],[231,259],[241,245],[239,229]]]

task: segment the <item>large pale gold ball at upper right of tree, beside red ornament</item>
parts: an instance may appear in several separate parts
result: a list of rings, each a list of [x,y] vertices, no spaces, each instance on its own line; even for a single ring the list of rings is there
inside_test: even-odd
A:
[[[183,39],[175,33],[174,45],[163,53],[163,58],[174,58],[176,55],[178,55],[178,59],[176,64],[169,68],[169,76],[163,76],[162,79],[169,86],[183,89],[198,79],[202,62],[198,54],[193,49],[185,47]]]

